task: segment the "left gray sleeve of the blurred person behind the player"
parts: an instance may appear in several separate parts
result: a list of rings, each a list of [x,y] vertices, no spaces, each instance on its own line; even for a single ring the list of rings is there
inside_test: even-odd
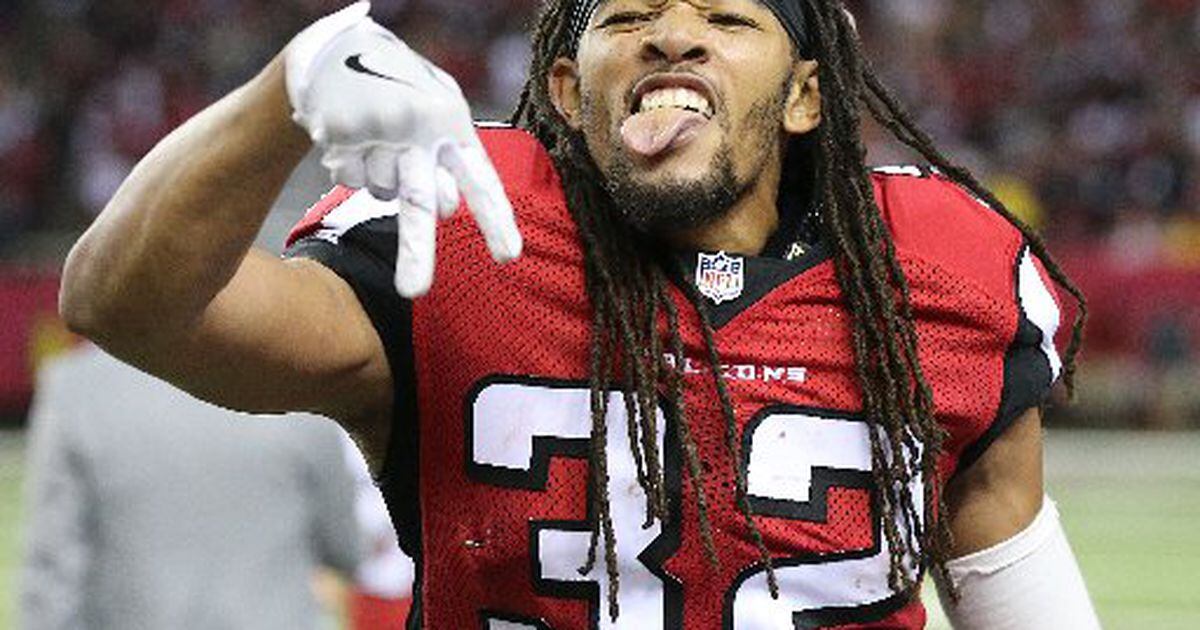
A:
[[[25,499],[28,520],[23,550],[18,628],[82,630],[83,601],[91,556],[88,530],[95,497],[88,486],[84,432],[72,425],[85,419],[54,367],[42,372],[30,413]]]

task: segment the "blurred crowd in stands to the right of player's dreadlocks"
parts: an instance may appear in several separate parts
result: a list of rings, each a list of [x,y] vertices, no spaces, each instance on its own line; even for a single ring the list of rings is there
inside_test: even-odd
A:
[[[880,71],[1050,240],[1200,266],[1200,2],[876,0]]]

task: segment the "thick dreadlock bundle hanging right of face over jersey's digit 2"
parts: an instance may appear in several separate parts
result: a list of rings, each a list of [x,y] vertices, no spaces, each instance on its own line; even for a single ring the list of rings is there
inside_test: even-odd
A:
[[[907,344],[905,337],[912,338],[914,344],[916,335],[911,318],[905,320],[896,313],[896,301],[907,301],[907,294],[895,286],[881,260],[894,259],[894,251],[889,247],[890,234],[883,226],[874,188],[866,176],[866,150],[860,142],[858,113],[850,106],[857,103],[863,92],[858,80],[863,60],[857,36],[840,2],[824,2],[812,8],[818,23],[818,46],[823,53],[822,88],[827,91],[826,124],[820,131],[826,157],[822,163],[826,198],[834,200],[827,203],[830,210],[827,224],[840,242],[839,278],[854,320],[856,364],[863,383],[864,412],[871,427],[871,452],[878,500],[884,514],[883,528],[892,550],[889,583],[894,589],[907,589],[911,578],[902,565],[912,544],[910,535],[900,534],[896,517],[906,522],[906,532],[917,530],[919,522],[912,520],[911,473],[906,466],[908,449],[904,434],[906,426],[931,425],[932,414],[922,413],[919,406],[912,404],[913,391],[920,389],[912,384],[922,383],[923,376],[919,370],[908,370],[908,353],[898,348],[898,341],[901,346]],[[840,144],[839,139],[846,144]],[[854,212],[853,218],[838,216],[847,210]],[[900,310],[904,312],[902,306]],[[865,344],[866,340],[883,343]],[[883,436],[878,428],[882,428]],[[918,433],[924,436],[931,432],[918,430]],[[938,446],[932,444],[929,448],[938,450]],[[934,472],[926,466],[922,468],[922,476],[928,482]],[[920,553],[917,548],[911,551],[913,556]]]

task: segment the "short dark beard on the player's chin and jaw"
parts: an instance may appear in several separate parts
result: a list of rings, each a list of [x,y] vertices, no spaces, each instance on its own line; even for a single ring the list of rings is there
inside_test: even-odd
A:
[[[738,175],[734,164],[733,133],[727,119],[714,120],[721,126],[724,139],[700,178],[643,181],[638,178],[640,167],[624,146],[613,146],[614,157],[604,172],[604,187],[617,212],[631,228],[654,235],[704,227],[727,215],[755,186],[772,151],[779,150],[788,84],[790,78],[776,95],[763,97],[748,114],[749,128],[738,137],[760,150],[756,163],[744,175]],[[619,138],[619,133],[613,137]]]

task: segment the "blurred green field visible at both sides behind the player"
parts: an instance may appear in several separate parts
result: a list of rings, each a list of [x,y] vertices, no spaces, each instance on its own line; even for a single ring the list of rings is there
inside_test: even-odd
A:
[[[0,433],[0,629],[14,628],[23,446]],[[1104,626],[1200,628],[1200,434],[1051,433],[1046,472]]]

